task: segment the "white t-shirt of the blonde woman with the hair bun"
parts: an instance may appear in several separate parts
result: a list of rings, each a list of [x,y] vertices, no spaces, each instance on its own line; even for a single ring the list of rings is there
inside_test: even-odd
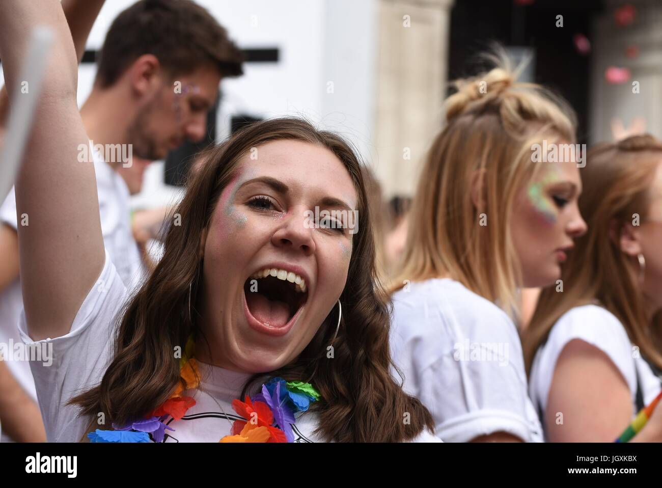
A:
[[[444,441],[500,431],[542,441],[512,320],[461,283],[428,279],[397,291],[391,350],[404,389],[428,407]]]

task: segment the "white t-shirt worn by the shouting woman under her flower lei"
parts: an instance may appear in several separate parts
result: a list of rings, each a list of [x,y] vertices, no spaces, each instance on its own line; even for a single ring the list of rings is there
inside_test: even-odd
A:
[[[78,416],[77,407],[66,403],[75,394],[101,381],[113,354],[115,317],[127,297],[126,287],[106,254],[103,271],[83,301],[70,332],[50,341],[38,341],[50,342],[53,348],[51,366],[44,366],[42,362],[30,363],[50,442],[78,442],[87,432],[90,419]],[[23,340],[32,342],[27,334],[24,313],[21,313],[19,328]],[[197,404],[181,420],[171,420],[167,424],[175,431],[166,430],[165,442],[218,442],[230,434],[232,422],[240,419],[231,403],[239,398],[249,375],[207,364],[200,364],[200,372],[201,387],[186,393]],[[314,413],[297,414],[293,427],[295,442],[322,442],[313,434],[315,428]],[[424,432],[414,442],[438,442],[438,439],[432,433]]]

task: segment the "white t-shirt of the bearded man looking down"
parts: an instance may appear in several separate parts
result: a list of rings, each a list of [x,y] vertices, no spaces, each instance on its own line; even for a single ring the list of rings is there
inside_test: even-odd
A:
[[[127,283],[128,286],[135,287],[142,280],[143,271],[138,246],[131,230],[128,187],[126,187],[122,177],[104,162],[102,155],[94,150],[91,150],[91,154],[93,155],[97,179],[103,242],[115,266],[117,266],[117,272],[122,281]],[[15,191],[12,188],[0,206],[0,225],[6,224],[16,230],[19,222],[20,220],[17,222]],[[19,344],[21,342],[17,325],[22,309],[21,281],[16,279],[0,291],[0,342],[5,344]],[[7,364],[9,371],[26,393],[36,401],[37,396],[30,364],[22,360],[9,360],[5,364]],[[11,440],[9,436],[3,435],[0,437],[0,442],[8,442],[9,440]]]

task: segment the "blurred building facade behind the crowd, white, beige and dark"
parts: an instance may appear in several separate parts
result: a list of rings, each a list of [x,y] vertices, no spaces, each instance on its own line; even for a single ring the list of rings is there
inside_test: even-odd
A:
[[[133,1],[106,3],[89,52]],[[242,117],[307,117],[354,143],[386,197],[413,195],[442,127],[448,80],[476,73],[475,55],[495,40],[532,54],[527,76],[569,100],[580,142],[611,140],[614,119],[626,130],[643,119],[662,136],[660,0],[196,1],[252,53],[244,76],[222,82],[216,139]],[[610,68],[622,79],[608,79]],[[79,103],[95,72],[93,62],[81,65]],[[155,164],[135,203],[160,205],[179,193]]]

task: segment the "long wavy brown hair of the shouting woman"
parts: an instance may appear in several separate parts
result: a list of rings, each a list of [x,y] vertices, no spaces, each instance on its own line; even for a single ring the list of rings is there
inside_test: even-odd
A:
[[[204,341],[196,313],[203,286],[198,280],[201,234],[240,158],[272,140],[316,144],[338,157],[358,195],[358,232],[340,295],[342,323],[333,342],[333,358],[327,358],[327,347],[336,329],[337,307],[329,311],[299,357],[277,371],[254,375],[244,393],[258,379],[275,375],[310,381],[322,395],[312,405],[319,418],[318,434],[336,442],[399,442],[426,427],[434,428],[426,408],[406,395],[390,374],[389,310],[375,279],[375,244],[361,163],[340,136],[290,118],[252,124],[207,150],[205,162],[175,209],[173,217],[181,225],[170,226],[162,260],[119,319],[114,360],[97,387],[71,400],[81,407],[81,415],[96,418],[103,412],[112,422],[126,424],[161,405],[183,382],[173,350],[183,349],[189,334],[198,345]],[[407,418],[409,422],[404,421]]]

